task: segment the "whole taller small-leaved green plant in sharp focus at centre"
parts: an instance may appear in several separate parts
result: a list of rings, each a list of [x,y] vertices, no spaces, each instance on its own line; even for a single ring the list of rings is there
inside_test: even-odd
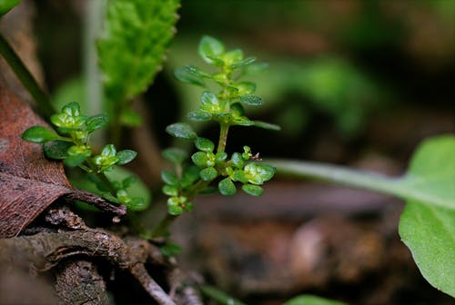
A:
[[[279,130],[277,125],[252,121],[245,116],[245,105],[259,106],[262,100],[255,95],[256,84],[242,81],[248,72],[262,67],[254,64],[256,58],[245,58],[239,49],[227,51],[225,45],[211,36],[204,36],[199,45],[198,53],[215,72],[208,73],[194,65],[186,65],[177,69],[178,80],[187,84],[195,84],[206,90],[201,94],[199,107],[188,114],[193,121],[212,120],[219,124],[217,146],[211,140],[201,136],[187,123],[173,123],[167,126],[167,133],[172,136],[191,141],[197,152],[191,155],[191,164],[186,164],[187,153],[177,148],[169,148],[163,152],[164,158],[171,162],[174,171],[163,171],[161,177],[165,186],[163,192],[167,199],[167,218],[161,221],[152,232],[153,237],[165,234],[168,225],[182,212],[193,209],[193,200],[204,192],[210,192],[210,184],[217,182],[217,191],[231,196],[237,192],[236,182],[241,189],[253,196],[262,194],[261,185],[268,182],[275,168],[259,162],[258,153],[251,153],[248,146],[243,152],[225,152],[227,134],[231,126],[258,126],[271,130]],[[215,84],[213,93],[206,82]],[[216,190],[216,189],[215,189]]]

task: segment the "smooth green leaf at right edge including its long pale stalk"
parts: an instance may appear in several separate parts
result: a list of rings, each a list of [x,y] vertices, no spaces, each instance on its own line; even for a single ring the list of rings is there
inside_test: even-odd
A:
[[[391,178],[316,162],[268,161],[278,173],[317,178],[406,200],[399,234],[423,277],[455,297],[455,136],[420,144],[408,172]]]

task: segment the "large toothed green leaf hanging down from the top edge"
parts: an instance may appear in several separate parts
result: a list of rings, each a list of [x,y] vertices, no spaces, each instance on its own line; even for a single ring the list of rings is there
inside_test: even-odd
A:
[[[98,41],[106,95],[123,102],[150,85],[174,36],[178,0],[111,0]]]

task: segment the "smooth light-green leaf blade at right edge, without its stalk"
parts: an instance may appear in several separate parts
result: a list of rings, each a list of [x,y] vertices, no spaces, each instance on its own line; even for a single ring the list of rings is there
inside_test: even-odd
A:
[[[422,143],[403,183],[422,200],[407,202],[399,235],[425,279],[455,297],[455,137]]]

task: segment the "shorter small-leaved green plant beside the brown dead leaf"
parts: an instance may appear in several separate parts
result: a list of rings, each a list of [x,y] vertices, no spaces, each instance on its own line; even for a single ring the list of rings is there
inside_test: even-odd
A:
[[[25,130],[22,138],[32,143],[44,144],[45,156],[53,160],[63,160],[66,166],[79,167],[88,172],[101,195],[110,202],[125,204],[128,209],[142,210],[145,201],[132,197],[127,189],[135,182],[134,176],[122,181],[111,181],[106,177],[116,165],[124,165],[136,158],[136,152],[117,152],[113,144],[107,144],[96,154],[89,143],[90,135],[107,123],[105,114],[87,116],[81,113],[78,103],[68,103],[61,113],[55,113],[50,121],[58,133],[43,126],[33,126]]]

